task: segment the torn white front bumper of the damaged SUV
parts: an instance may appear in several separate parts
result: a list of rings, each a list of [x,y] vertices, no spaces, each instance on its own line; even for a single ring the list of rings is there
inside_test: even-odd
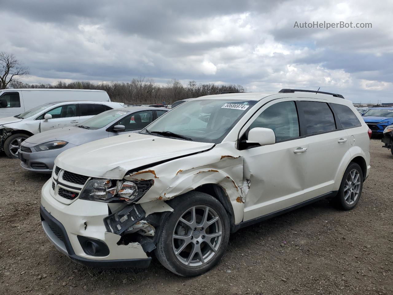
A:
[[[118,245],[120,236],[106,231],[103,222],[103,218],[108,216],[106,203],[77,199],[72,204],[66,205],[54,199],[50,189],[51,180],[42,188],[40,215],[42,228],[57,250],[71,260],[88,266],[149,266],[151,257],[146,255],[139,243]],[[108,253],[106,256],[86,254],[80,237],[105,244]]]

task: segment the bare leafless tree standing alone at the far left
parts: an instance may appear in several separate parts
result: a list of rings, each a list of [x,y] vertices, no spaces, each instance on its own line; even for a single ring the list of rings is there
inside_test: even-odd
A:
[[[22,66],[12,53],[0,52],[0,89],[29,74],[29,68]]]

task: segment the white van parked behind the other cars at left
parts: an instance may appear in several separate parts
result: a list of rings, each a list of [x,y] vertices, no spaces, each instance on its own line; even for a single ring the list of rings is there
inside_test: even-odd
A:
[[[0,118],[11,117],[38,105],[57,101],[110,101],[106,91],[83,89],[2,89]]]

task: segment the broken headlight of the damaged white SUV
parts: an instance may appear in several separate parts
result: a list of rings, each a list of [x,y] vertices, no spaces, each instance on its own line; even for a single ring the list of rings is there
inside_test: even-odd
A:
[[[79,199],[99,202],[138,201],[153,185],[153,180],[125,181],[93,178],[88,181]]]

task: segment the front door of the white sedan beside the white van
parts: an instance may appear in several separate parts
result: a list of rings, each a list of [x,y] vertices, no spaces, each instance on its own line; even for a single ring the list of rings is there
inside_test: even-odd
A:
[[[45,114],[51,114],[52,118],[45,120]],[[39,119],[41,121],[40,132],[77,125],[79,123],[79,116],[77,116],[77,105],[72,103],[55,107],[39,116]]]

